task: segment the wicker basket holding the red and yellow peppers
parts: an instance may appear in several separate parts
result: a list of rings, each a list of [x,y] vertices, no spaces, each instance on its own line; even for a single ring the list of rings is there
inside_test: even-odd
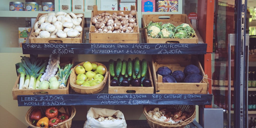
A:
[[[33,128],[39,128],[37,126],[34,126],[32,125],[32,121],[29,119],[29,116],[30,114],[32,113],[32,111],[36,108],[39,108],[42,112],[42,115],[45,114],[45,110],[48,108],[49,106],[32,106],[28,112],[26,113],[26,116],[25,116],[25,121],[26,123],[30,126],[30,127],[33,127]],[[57,106],[59,108],[61,108],[62,106]],[[61,123],[58,123],[57,126],[53,126],[55,128],[70,128],[71,127],[71,123],[72,123],[72,118],[75,116],[76,114],[76,108],[74,106],[63,106],[65,109],[67,108],[68,111],[69,111],[69,115],[70,115],[70,118],[66,121],[63,121]]]

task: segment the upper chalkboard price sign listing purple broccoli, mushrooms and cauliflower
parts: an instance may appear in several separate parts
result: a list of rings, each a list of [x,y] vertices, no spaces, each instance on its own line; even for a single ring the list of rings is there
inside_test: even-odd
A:
[[[207,44],[22,44],[23,54],[206,54]]]

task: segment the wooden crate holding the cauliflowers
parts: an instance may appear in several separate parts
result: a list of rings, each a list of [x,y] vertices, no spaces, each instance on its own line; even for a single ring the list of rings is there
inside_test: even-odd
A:
[[[169,16],[169,19],[159,19],[161,16]],[[190,27],[192,27],[188,16],[186,14],[153,14],[153,15],[142,15],[142,24],[143,28],[145,26],[148,26],[148,23],[150,22],[162,22],[162,24],[173,24],[175,27],[179,26],[183,23],[189,24]],[[193,28],[193,27],[192,27]],[[152,38],[148,36],[147,29],[144,28],[146,42],[147,43],[198,43],[198,37],[197,35],[193,38],[188,39],[175,39],[175,38]]]

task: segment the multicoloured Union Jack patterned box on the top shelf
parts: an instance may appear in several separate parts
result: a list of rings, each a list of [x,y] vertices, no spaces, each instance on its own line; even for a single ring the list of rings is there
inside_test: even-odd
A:
[[[158,0],[158,12],[178,12],[178,0]]]

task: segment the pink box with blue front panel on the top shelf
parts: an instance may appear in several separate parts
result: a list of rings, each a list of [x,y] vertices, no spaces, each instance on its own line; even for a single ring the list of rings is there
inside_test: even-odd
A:
[[[141,11],[142,12],[155,12],[156,1],[155,0],[142,0],[141,1]]]

